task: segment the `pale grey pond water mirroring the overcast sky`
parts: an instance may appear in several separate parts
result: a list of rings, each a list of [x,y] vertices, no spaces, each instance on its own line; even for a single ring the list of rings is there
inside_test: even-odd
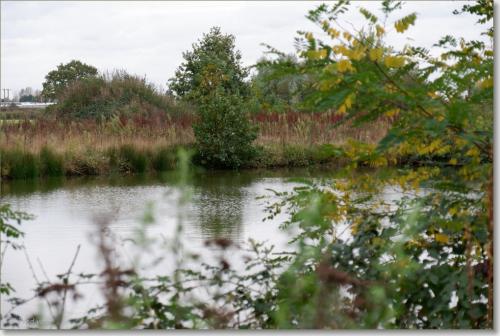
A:
[[[110,219],[110,231],[120,238],[117,250],[125,259],[132,258],[140,251],[127,243],[127,239],[133,238],[141,227],[141,218],[148,207],[155,219],[154,225],[147,229],[148,234],[172,238],[182,220],[182,242],[191,250],[206,253],[204,242],[213,238],[228,238],[239,244],[253,238],[282,250],[287,247],[290,236],[278,226],[287,214],[263,221],[269,215],[265,202],[273,200],[269,189],[292,190],[298,185],[294,178],[326,175],[328,172],[317,170],[193,173],[188,182],[191,197],[182,212],[175,173],[161,177],[4,182],[2,202],[33,214],[35,219],[23,222],[21,227],[25,233],[22,239],[25,250],[7,251],[2,282],[11,283],[16,296],[28,298],[33,295],[37,281],[54,280],[57,274],[67,271],[78,245],[80,253],[73,271],[98,271],[101,263],[95,248],[96,220],[104,216]],[[148,252],[144,253],[147,257]],[[68,317],[84,314],[99,297],[97,289],[86,290],[83,303],[68,308]],[[9,304],[4,300],[2,303],[5,313]],[[46,308],[30,303],[18,312],[29,314],[37,309]]]

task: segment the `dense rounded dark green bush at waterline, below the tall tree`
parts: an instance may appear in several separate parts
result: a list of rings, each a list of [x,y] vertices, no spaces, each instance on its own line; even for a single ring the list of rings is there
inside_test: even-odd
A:
[[[202,164],[237,168],[255,155],[256,127],[245,115],[240,96],[218,87],[203,99],[198,113],[193,130]]]

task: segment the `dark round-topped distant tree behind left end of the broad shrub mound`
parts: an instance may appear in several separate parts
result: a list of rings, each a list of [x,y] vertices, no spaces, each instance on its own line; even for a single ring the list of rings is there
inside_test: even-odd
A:
[[[45,76],[42,95],[47,99],[57,99],[70,83],[96,76],[97,69],[91,65],[76,60],[66,64],[61,63],[56,70],[50,71]]]

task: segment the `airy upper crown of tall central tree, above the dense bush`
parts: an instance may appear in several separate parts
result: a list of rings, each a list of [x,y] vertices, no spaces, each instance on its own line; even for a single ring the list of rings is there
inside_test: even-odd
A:
[[[218,86],[228,93],[248,95],[248,71],[241,65],[241,53],[234,42],[233,35],[223,34],[218,27],[210,29],[193,44],[192,51],[183,53],[184,62],[169,80],[169,89],[195,103]]]

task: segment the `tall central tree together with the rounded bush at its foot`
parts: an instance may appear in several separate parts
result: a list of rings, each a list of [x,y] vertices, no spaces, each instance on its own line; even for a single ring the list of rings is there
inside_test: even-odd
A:
[[[183,54],[185,62],[170,80],[170,90],[196,105],[193,126],[200,157],[205,164],[239,167],[254,153],[256,129],[246,116],[247,70],[235,50],[234,36],[212,28]]]

